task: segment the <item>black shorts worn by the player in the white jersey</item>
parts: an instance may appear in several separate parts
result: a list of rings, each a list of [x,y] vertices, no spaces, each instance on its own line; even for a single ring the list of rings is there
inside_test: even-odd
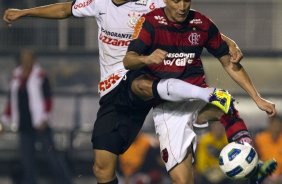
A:
[[[124,153],[139,133],[151,101],[143,101],[131,91],[131,82],[141,75],[130,71],[120,84],[100,99],[100,109],[92,133],[93,149]]]

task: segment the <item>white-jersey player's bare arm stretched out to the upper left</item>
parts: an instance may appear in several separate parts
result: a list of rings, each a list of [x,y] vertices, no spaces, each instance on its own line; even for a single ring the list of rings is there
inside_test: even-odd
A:
[[[28,9],[7,9],[3,20],[12,23],[21,17],[41,17],[48,19],[64,19],[71,16],[72,2],[56,3]]]

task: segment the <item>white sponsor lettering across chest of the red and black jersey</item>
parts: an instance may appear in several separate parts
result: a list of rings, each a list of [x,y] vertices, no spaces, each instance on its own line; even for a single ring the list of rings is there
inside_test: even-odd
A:
[[[186,66],[191,64],[195,58],[195,53],[168,53],[166,59],[163,61],[164,65],[172,66]]]

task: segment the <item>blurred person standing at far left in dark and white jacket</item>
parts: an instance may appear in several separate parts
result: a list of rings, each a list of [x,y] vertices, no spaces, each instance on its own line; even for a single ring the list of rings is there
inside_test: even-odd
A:
[[[58,157],[49,126],[52,93],[47,73],[36,63],[31,50],[19,53],[18,66],[13,70],[7,105],[2,122],[19,132],[19,152],[23,184],[37,183],[36,143],[45,154],[46,165],[53,173],[53,183],[71,184],[66,163]]]

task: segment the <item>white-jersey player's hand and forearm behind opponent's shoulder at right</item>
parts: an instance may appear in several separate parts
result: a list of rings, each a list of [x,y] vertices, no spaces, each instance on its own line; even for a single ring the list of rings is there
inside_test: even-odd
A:
[[[221,33],[221,38],[227,43],[229,47],[230,61],[239,63],[243,59],[243,53],[234,40]]]

